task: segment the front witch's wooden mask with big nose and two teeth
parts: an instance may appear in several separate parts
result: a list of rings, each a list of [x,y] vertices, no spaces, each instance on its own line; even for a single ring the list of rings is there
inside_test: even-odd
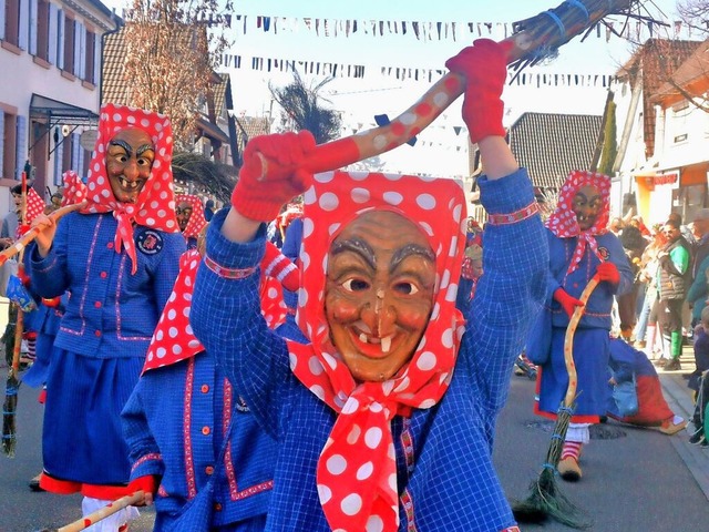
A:
[[[433,306],[435,256],[423,233],[392,212],[351,222],[329,249],[330,337],[357,381],[383,381],[409,361]]]

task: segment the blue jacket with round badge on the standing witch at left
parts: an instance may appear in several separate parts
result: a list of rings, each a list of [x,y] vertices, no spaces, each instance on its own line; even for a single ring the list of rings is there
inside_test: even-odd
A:
[[[32,289],[51,298],[71,291],[56,347],[85,357],[145,357],[153,329],[177,277],[179,233],[135,227],[138,267],[113,248],[112,214],[71,213],[59,221],[47,257],[29,248]]]

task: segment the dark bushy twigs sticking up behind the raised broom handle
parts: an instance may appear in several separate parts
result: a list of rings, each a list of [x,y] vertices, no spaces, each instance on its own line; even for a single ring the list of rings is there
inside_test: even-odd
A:
[[[331,141],[340,135],[342,120],[337,111],[320,105],[323,101],[319,91],[332,78],[327,78],[315,86],[308,88],[300,74],[294,72],[292,83],[277,89],[271,84],[268,89],[274,100],[282,108],[287,116],[286,130],[308,130],[318,144]],[[328,102],[330,103],[330,102]]]

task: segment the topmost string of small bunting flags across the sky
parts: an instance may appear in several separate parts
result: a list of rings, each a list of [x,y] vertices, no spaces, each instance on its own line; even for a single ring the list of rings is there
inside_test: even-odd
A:
[[[247,35],[253,31],[271,34],[308,32],[322,38],[352,38],[369,35],[373,38],[389,38],[402,35],[418,41],[454,41],[471,42],[479,38],[493,40],[506,39],[513,33],[514,22],[461,22],[461,21],[411,21],[411,20],[357,20],[328,19],[308,17],[266,17],[229,14],[219,19],[222,25],[230,28],[237,37]],[[590,32],[597,39],[609,41],[614,35],[643,42],[651,37],[668,39],[691,39],[692,32],[702,38],[697,28],[681,20],[671,22],[658,20],[605,21],[607,25],[596,24],[596,31]],[[658,28],[658,25],[660,25]],[[618,31],[613,31],[617,25]],[[605,31],[604,31],[605,30]],[[666,34],[662,34],[666,33]],[[671,34],[670,34],[671,33]]]

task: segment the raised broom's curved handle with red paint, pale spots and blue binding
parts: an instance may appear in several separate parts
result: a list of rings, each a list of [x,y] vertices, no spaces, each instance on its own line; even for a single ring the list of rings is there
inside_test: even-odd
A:
[[[538,50],[554,50],[604,17],[627,10],[631,4],[633,0],[565,1],[555,9],[527,19],[523,21],[526,22],[524,29],[502,41],[512,44],[507,64],[534,59]],[[393,150],[429,126],[464,90],[465,79],[449,72],[389,124],[319,144],[306,154],[301,167],[317,174]],[[261,177],[265,177],[269,161],[258,152],[256,156],[261,165]]]

